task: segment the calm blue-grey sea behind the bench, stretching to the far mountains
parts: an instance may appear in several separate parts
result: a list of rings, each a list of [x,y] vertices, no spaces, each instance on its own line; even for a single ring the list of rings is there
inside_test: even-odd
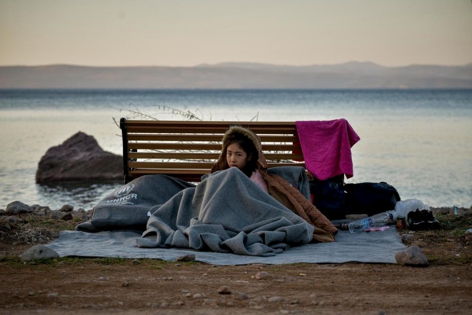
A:
[[[123,182],[37,184],[38,163],[82,131],[122,155],[120,117],[345,118],[361,140],[346,183],[385,181],[402,200],[472,205],[472,90],[0,90],[0,209],[21,201],[90,210]]]

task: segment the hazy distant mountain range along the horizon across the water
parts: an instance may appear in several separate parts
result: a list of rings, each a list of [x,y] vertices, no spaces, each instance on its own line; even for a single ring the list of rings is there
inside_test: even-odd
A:
[[[471,89],[472,64],[384,67],[369,62],[195,67],[1,66],[0,89]]]

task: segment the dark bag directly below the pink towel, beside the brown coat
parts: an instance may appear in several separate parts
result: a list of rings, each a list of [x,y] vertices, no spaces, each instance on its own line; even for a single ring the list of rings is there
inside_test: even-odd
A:
[[[329,220],[344,219],[347,213],[343,176],[327,180],[314,179],[310,181],[310,193],[313,195],[313,204]]]

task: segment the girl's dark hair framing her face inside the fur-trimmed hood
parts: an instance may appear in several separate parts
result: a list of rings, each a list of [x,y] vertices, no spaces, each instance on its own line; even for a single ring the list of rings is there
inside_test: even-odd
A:
[[[241,170],[244,174],[246,174],[247,177],[251,177],[254,170],[257,169],[257,160],[259,159],[259,152],[254,142],[251,141],[251,139],[247,135],[241,133],[231,133],[230,135],[228,135],[227,139],[223,143],[223,149],[221,150],[221,154],[224,157],[224,169],[230,167],[226,159],[226,152],[228,150],[228,147],[233,143],[236,143],[236,145],[238,145],[244,152],[246,152],[248,157],[251,157]]]

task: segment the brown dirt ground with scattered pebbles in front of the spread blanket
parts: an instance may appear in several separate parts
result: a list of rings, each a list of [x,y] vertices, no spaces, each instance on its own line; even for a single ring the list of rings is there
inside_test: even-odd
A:
[[[443,229],[404,241],[422,248],[424,268],[71,257],[22,263],[18,255],[31,245],[4,238],[0,314],[472,314],[471,213],[436,218]]]

